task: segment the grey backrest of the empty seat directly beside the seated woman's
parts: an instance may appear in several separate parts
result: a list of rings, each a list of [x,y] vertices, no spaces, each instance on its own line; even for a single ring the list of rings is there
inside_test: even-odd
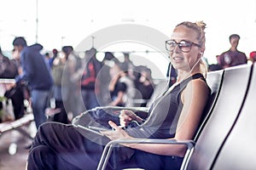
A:
[[[241,110],[247,92],[251,65],[224,70],[218,99],[205,127],[203,127],[191,155],[187,169],[210,169],[218,150]]]

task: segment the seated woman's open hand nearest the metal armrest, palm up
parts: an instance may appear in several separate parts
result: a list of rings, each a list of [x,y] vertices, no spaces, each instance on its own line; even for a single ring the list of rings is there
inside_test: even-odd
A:
[[[115,139],[131,139],[131,136],[129,136],[125,131],[122,129],[122,127],[117,126],[114,122],[109,121],[108,124],[110,127],[113,128],[113,131],[101,131],[102,134],[107,136],[111,140]]]

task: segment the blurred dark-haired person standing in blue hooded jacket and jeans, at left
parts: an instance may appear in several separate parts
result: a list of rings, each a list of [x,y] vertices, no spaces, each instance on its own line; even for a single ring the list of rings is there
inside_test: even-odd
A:
[[[26,45],[24,37],[15,37],[15,50],[20,53],[22,74],[15,78],[16,85],[27,83],[31,91],[32,112],[36,127],[47,121],[45,109],[49,99],[49,90],[53,85],[53,77],[44,56],[40,54],[41,44]]]

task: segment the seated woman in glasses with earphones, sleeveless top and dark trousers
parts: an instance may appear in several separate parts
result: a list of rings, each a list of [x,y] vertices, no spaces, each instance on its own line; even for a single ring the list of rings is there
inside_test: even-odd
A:
[[[131,121],[142,122],[140,126],[124,131],[109,121],[114,131],[100,135],[73,125],[44,123],[33,140],[27,169],[96,169],[104,145],[113,139],[193,139],[210,94],[207,67],[201,60],[205,26],[182,22],[174,28],[166,49],[177,70],[177,82],[155,100],[146,120],[127,110],[119,115],[121,126]],[[114,148],[107,168],[179,169],[185,150],[177,144],[125,144]]]

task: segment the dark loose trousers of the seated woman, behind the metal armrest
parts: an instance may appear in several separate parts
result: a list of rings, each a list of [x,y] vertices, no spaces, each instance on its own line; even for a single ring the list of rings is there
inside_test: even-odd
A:
[[[33,140],[28,156],[28,170],[65,170],[92,169],[95,170],[104,145],[109,139],[84,131],[73,125],[58,122],[42,124]],[[183,158],[173,156],[158,156],[131,150],[126,147],[116,147],[108,162],[107,169],[123,169],[142,167],[148,170],[179,169]]]

